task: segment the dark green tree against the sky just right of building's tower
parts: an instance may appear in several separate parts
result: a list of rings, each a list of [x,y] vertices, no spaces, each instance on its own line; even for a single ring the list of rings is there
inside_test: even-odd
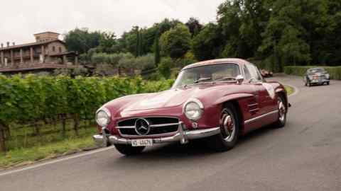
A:
[[[83,54],[94,47],[98,47],[101,37],[102,34],[99,32],[75,28],[65,35],[64,40],[67,50]]]

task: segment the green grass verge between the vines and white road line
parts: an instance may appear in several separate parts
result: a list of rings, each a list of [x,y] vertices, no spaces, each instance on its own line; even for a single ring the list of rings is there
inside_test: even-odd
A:
[[[54,158],[67,153],[82,151],[95,146],[92,135],[96,134],[95,125],[82,125],[79,135],[72,129],[72,122],[67,122],[65,137],[54,125],[41,125],[40,136],[33,134],[33,127],[16,126],[11,132],[11,139],[6,141],[8,151],[0,153],[0,169],[20,163],[33,163],[43,158]]]

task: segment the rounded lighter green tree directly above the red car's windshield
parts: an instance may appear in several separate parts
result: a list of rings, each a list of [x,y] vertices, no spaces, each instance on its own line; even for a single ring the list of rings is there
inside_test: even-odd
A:
[[[183,57],[190,50],[190,30],[186,25],[178,24],[161,35],[160,45],[163,55],[173,59]]]

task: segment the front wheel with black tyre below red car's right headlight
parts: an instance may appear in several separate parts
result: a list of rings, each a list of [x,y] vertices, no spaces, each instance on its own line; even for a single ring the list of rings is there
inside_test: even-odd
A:
[[[220,134],[208,139],[212,149],[228,151],[237,144],[239,137],[239,122],[237,119],[237,112],[234,105],[225,105],[220,114]]]

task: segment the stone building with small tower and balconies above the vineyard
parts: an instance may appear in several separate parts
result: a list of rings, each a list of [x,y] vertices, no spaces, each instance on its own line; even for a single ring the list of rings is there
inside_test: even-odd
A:
[[[36,42],[15,45],[14,42],[0,47],[0,73],[16,74],[54,69],[75,68],[77,52],[67,52],[65,42],[59,40],[60,34],[53,32],[38,33]]]

